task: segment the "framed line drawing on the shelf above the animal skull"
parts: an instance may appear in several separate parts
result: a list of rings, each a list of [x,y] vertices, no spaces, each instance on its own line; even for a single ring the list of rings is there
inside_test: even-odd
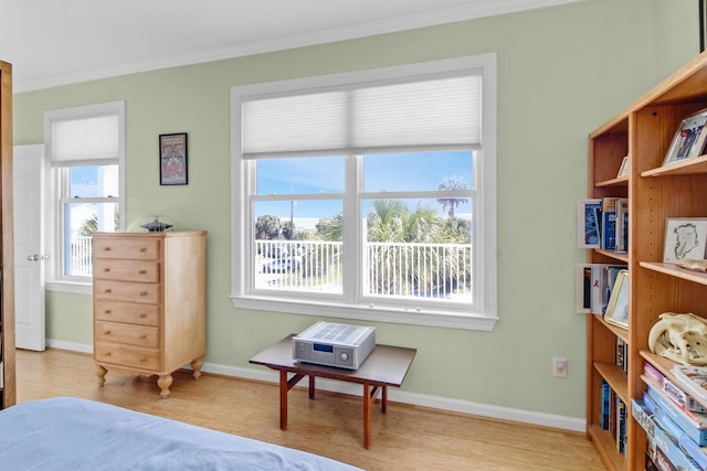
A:
[[[705,259],[707,217],[668,217],[665,221],[663,261]]]

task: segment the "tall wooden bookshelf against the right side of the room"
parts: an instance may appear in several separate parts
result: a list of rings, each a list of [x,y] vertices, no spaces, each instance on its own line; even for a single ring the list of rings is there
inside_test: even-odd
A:
[[[588,319],[587,436],[611,470],[643,470],[645,432],[633,419],[627,452],[599,427],[601,379],[626,403],[641,399],[643,363],[673,377],[672,362],[650,352],[648,333],[663,312],[693,312],[707,318],[707,274],[663,263],[665,220],[707,217],[707,156],[663,165],[673,137],[686,117],[707,108],[707,53],[703,53],[646,93],[589,137],[589,195],[629,199],[629,251],[589,250],[589,263],[618,260],[629,271],[629,329],[616,329],[595,315]],[[616,176],[629,156],[627,176]],[[629,344],[629,371],[612,364],[616,339]],[[619,368],[620,370],[620,368]],[[629,414],[631,417],[631,414]]]

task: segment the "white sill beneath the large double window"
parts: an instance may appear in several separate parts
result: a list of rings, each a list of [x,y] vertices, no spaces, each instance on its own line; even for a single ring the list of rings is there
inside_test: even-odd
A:
[[[297,298],[273,299],[272,297],[258,296],[231,296],[231,301],[235,308],[240,309],[450,329],[493,331],[498,321],[496,315],[462,314],[443,310],[416,310],[372,304],[352,306],[327,300],[312,301]]]

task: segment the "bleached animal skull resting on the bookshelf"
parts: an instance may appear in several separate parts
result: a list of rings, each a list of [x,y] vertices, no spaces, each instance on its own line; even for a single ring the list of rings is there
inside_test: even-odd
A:
[[[707,365],[707,320],[664,312],[648,334],[651,352],[684,365]]]

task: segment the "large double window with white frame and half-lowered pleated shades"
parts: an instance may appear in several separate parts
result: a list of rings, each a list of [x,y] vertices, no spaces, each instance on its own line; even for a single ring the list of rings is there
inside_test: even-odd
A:
[[[495,56],[232,89],[238,307],[490,330]]]

